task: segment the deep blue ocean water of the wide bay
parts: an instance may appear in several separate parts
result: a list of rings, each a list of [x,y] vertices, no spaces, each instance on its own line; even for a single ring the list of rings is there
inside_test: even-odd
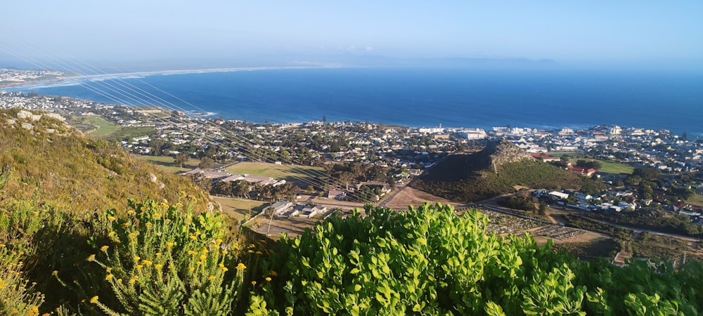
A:
[[[175,105],[257,123],[325,116],[328,121],[484,129],[618,124],[703,136],[703,74],[693,72],[310,68],[81,80],[93,88],[67,81],[15,90],[105,103]],[[131,91],[134,87],[160,99]],[[136,98],[121,96],[118,89]]]

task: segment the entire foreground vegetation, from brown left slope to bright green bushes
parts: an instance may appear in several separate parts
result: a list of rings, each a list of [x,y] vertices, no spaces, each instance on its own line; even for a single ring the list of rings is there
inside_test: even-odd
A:
[[[1,315],[695,315],[703,308],[697,261],[679,270],[667,261],[627,268],[581,261],[529,235],[498,237],[480,213],[458,216],[441,205],[368,206],[366,217],[331,217],[275,245],[243,243],[221,213],[206,211],[206,196],[192,184],[56,119],[17,114],[0,112],[0,159],[8,164],[0,171]]]

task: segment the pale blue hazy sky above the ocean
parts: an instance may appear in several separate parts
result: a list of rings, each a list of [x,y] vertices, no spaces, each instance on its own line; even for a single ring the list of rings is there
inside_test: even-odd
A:
[[[703,69],[703,1],[22,0],[0,10],[6,64],[348,54]]]

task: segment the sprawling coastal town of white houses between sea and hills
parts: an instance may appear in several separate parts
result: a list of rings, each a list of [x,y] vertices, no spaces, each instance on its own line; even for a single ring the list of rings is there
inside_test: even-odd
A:
[[[119,139],[112,140],[126,150],[141,157],[169,157],[165,161],[212,195],[268,201],[241,218],[243,222],[258,220],[257,231],[266,235],[291,232],[285,218],[305,218],[314,225],[319,218],[364,204],[389,206],[397,192],[444,157],[476,152],[486,141],[496,139],[510,140],[534,159],[610,186],[599,192],[531,188],[531,194],[551,208],[590,212],[605,221],[613,219],[603,213],[657,209],[678,221],[664,228],[633,227],[681,236],[700,235],[703,227],[699,198],[703,195],[703,141],[686,133],[614,125],[586,130],[411,128],[326,121],[322,115],[320,121],[305,123],[254,124],[205,113],[6,91],[0,91],[0,108],[60,114],[84,133],[101,128],[99,120],[86,118],[100,117],[123,131]],[[197,164],[185,168],[192,161]],[[236,166],[246,163],[269,164],[283,176],[236,171]],[[299,166],[297,173],[286,173],[293,166]],[[684,219],[688,223],[673,227]],[[657,222],[651,218],[639,221]],[[273,230],[272,222],[277,223]]]

